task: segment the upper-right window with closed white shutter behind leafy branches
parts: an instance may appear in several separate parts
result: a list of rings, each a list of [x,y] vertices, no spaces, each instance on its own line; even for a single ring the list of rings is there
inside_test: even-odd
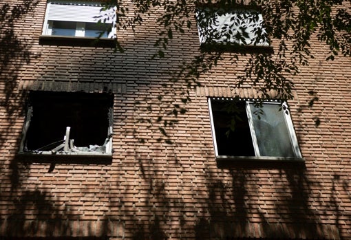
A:
[[[269,46],[262,14],[255,10],[199,8],[200,44]]]

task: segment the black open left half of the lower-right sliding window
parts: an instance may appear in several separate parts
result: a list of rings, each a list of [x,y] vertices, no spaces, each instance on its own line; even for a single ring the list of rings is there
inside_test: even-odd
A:
[[[245,102],[211,101],[218,155],[255,156]]]

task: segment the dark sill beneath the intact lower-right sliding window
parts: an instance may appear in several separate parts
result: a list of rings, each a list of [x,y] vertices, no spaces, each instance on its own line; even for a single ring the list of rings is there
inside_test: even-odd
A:
[[[222,168],[290,168],[304,166],[301,157],[246,157],[246,156],[216,156],[217,166]]]

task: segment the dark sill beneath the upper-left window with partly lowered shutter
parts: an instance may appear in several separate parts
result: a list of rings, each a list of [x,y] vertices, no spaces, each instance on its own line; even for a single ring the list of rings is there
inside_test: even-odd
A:
[[[116,47],[116,39],[86,36],[39,36],[40,45],[74,46],[74,47]]]

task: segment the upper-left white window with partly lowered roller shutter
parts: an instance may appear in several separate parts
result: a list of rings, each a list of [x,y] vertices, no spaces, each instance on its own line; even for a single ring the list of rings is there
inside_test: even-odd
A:
[[[43,35],[113,38],[115,10],[96,1],[47,1]]]

